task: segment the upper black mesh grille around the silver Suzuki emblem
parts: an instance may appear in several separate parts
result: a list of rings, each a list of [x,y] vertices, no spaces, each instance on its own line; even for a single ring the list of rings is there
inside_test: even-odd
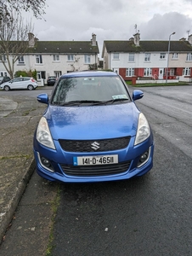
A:
[[[130,137],[118,137],[102,140],[59,140],[61,148],[68,152],[95,152],[92,143],[99,143],[97,152],[127,148]]]

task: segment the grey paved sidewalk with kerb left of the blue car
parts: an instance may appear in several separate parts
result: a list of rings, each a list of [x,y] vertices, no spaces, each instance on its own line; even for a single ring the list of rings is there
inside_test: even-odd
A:
[[[35,170],[33,134],[45,108],[35,97],[0,94],[0,243]]]

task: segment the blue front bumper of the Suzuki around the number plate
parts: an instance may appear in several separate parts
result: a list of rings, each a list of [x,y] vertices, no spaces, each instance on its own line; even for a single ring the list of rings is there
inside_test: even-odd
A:
[[[43,147],[41,144],[37,143],[34,139],[34,156],[37,163],[37,173],[50,180],[50,181],[60,181],[65,183],[91,183],[91,182],[104,182],[104,181],[115,181],[115,180],[122,180],[128,179],[134,176],[142,176],[146,172],[149,172],[150,169],[153,167],[153,154],[154,154],[154,142],[153,137],[151,136],[148,138],[144,143],[141,143],[137,146],[133,146],[134,138],[131,139],[129,146],[127,148],[117,150],[117,151],[110,151],[110,152],[99,152],[99,155],[104,154],[118,154],[119,156],[119,166],[117,168],[120,172],[110,172],[110,168],[115,168],[113,165],[105,166],[106,169],[109,168],[109,172],[102,173],[99,175],[99,172],[95,175],[86,176],[85,174],[82,176],[81,173],[76,174],[68,174],[69,172],[65,172],[65,166],[75,168],[72,164],[72,159],[74,156],[85,156],[85,155],[93,155],[93,154],[76,154],[70,152],[64,152],[60,149],[59,144],[56,144],[56,148],[59,150],[52,150]],[[148,159],[144,162],[143,165],[138,167],[138,160],[144,152],[149,150]],[[42,165],[40,155],[43,157],[46,156],[51,161],[51,165],[53,166],[53,170],[48,170],[45,166]],[[95,154],[96,155],[96,154]],[[128,163],[127,167],[124,163]],[[100,168],[100,166],[93,166],[93,168]],[[83,169],[83,166],[81,166]],[[88,170],[88,173],[91,172],[92,166],[85,166],[85,171]]]

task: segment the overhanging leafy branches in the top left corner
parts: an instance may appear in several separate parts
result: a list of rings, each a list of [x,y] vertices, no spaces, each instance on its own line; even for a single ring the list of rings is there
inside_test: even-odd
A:
[[[7,13],[11,13],[13,9],[20,13],[21,10],[33,12],[33,15],[36,18],[42,17],[45,14],[46,0],[0,0],[0,19],[3,15],[3,10],[6,10]]]

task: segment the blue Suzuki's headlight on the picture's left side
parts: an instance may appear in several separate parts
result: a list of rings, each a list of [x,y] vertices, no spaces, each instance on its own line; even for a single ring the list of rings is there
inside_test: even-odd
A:
[[[37,141],[48,148],[55,149],[54,141],[48,128],[48,122],[44,117],[40,119],[37,126]]]

